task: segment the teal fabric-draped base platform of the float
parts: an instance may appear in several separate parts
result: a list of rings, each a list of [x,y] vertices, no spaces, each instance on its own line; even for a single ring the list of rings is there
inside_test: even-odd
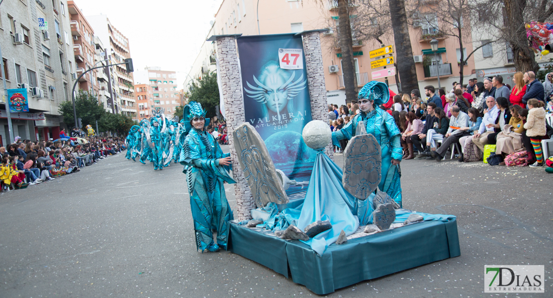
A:
[[[229,230],[229,250],[233,253],[286,278],[291,275],[294,283],[319,295],[461,255],[455,219],[423,221],[353,239],[350,236],[342,245],[329,246],[322,256],[301,241],[283,240],[268,230],[235,223]]]

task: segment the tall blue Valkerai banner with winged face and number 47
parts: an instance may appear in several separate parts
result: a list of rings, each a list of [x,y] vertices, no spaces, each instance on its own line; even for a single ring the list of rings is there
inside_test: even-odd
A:
[[[301,36],[241,36],[237,45],[246,121],[263,138],[276,169],[309,181],[316,153],[301,138],[311,121]],[[286,193],[305,190],[291,186]]]

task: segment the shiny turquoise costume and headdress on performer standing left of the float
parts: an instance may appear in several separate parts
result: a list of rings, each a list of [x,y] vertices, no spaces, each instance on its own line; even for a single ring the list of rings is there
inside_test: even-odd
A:
[[[223,154],[219,144],[205,131],[192,128],[190,120],[205,117],[205,111],[197,102],[190,102],[184,108],[186,138],[181,150],[180,163],[188,183],[190,207],[194,218],[196,245],[202,252],[227,248],[228,221],[233,219],[227,202],[223,182],[236,183],[228,175],[229,166],[220,166]],[[206,119],[207,127],[209,120]],[[212,228],[217,229],[217,244],[213,241]]]

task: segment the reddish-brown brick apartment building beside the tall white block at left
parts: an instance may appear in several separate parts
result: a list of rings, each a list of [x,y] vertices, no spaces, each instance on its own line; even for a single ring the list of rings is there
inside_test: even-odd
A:
[[[67,9],[71,15],[71,36],[73,39],[73,53],[77,63],[77,77],[87,69],[95,66],[96,46],[94,30],[82,14],[74,1],[67,1]],[[86,73],[79,80],[79,89],[91,92],[98,96],[100,86],[97,82],[98,69]]]

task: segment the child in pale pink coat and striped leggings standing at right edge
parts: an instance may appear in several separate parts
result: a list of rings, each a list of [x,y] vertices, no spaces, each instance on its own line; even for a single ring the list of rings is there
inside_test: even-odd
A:
[[[545,104],[543,101],[537,100],[535,98],[528,100],[529,111],[526,123],[524,123],[524,128],[526,129],[526,137],[530,138],[530,143],[532,144],[532,147],[526,148],[526,151],[533,151],[533,155],[536,158],[536,162],[534,162],[534,164],[531,164],[530,167],[544,166],[544,156],[541,151],[541,139],[547,136],[545,128],[544,106]]]

